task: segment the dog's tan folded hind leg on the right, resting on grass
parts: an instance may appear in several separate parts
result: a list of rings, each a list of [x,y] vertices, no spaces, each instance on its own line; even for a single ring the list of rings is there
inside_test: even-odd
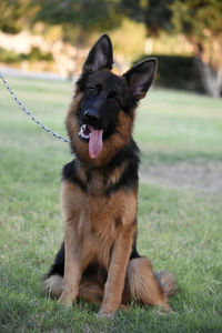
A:
[[[164,310],[170,310],[168,304],[170,282],[165,285],[168,285],[168,289],[164,290],[161,276],[155,275],[148,258],[141,256],[130,260],[127,270],[127,286],[132,299],[143,304],[158,305]]]

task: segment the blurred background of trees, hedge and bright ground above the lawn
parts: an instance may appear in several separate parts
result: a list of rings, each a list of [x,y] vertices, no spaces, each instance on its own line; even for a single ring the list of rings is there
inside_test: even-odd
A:
[[[221,0],[1,0],[0,12],[0,67],[9,73],[73,78],[107,32],[117,72],[158,56],[157,85],[221,97]]]

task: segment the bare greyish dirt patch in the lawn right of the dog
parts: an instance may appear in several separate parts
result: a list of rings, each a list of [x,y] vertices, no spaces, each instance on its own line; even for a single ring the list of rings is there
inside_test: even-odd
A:
[[[222,162],[176,163],[141,168],[140,180],[150,184],[186,188],[222,196]]]

